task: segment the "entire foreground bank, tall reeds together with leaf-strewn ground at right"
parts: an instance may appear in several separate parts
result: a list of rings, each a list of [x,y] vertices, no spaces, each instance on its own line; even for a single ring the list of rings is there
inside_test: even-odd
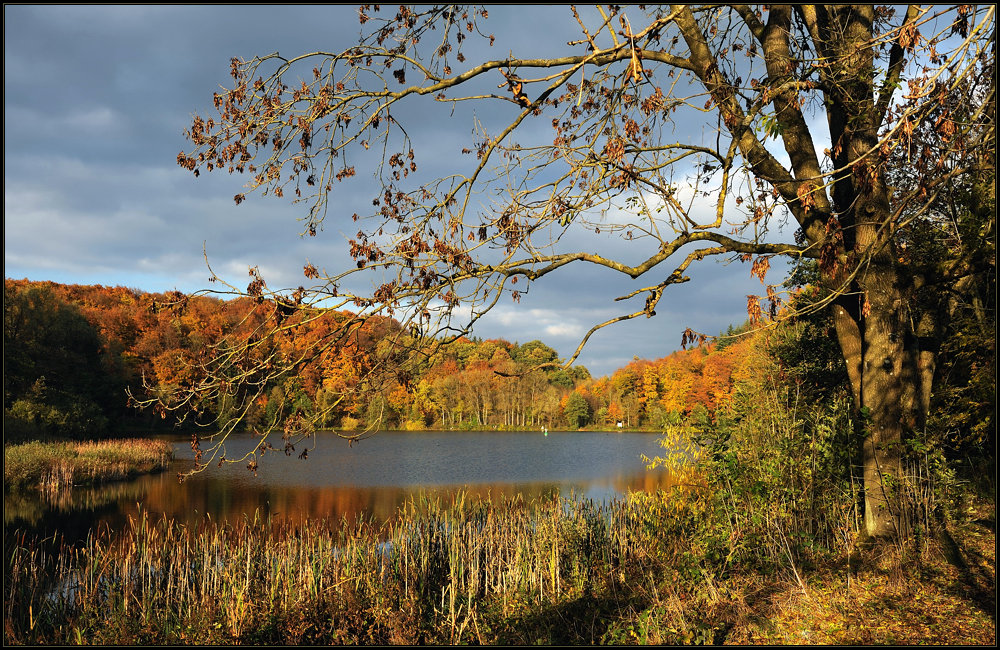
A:
[[[919,549],[724,571],[677,534],[670,508],[662,494],[602,506],[458,497],[385,525],[140,517],[79,548],[22,537],[6,548],[4,640],[995,642],[995,506]]]

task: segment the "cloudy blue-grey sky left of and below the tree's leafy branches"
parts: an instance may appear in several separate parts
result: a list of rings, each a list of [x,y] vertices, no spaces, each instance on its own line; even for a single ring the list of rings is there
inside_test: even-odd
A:
[[[501,49],[524,57],[577,37],[565,6],[491,7],[487,24]],[[196,179],[176,158],[189,148],[183,132],[193,115],[208,115],[212,93],[230,81],[233,56],[339,51],[358,30],[355,9],[343,6],[5,5],[5,277],[194,292],[213,286],[206,259],[236,285],[250,266],[269,285],[291,287],[307,261],[336,268],[350,225],[334,221],[302,238],[301,206],[257,195],[236,206],[245,178]],[[436,110],[410,116],[441,150],[432,166],[452,160],[473,128],[469,116]],[[348,209],[368,201],[337,197]],[[641,259],[639,249],[621,252]],[[597,332],[578,363],[597,376],[663,357],[687,327],[716,334],[742,323],[747,295],[764,293],[748,265],[707,261],[689,275],[667,289],[655,317]],[[650,283],[597,268],[560,271],[519,304],[501,302],[474,334],[540,339],[568,357],[592,325],[623,313],[615,297]]]

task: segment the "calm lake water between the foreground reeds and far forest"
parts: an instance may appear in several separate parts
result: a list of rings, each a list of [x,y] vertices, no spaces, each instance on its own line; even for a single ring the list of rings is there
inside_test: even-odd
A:
[[[254,516],[387,520],[411,499],[449,499],[460,491],[472,497],[576,494],[606,500],[669,485],[666,472],[646,470],[641,458],[662,451],[657,439],[618,432],[382,432],[349,446],[327,433],[297,445],[291,456],[266,454],[256,477],[244,462],[212,465],[180,483],[177,473],[192,466],[194,454],[187,439],[174,438],[176,459],[162,474],[75,488],[54,502],[5,494],[4,532],[82,539],[95,526],[127,525],[140,509],[192,525],[206,516],[230,522]],[[226,456],[241,457],[257,440],[231,436]],[[305,448],[308,459],[300,460]]]

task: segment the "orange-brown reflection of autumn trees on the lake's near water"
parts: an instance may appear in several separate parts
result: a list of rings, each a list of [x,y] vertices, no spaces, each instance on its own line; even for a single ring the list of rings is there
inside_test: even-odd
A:
[[[618,437],[613,439],[618,440]],[[394,444],[390,447],[398,447],[398,442],[402,440],[393,440]],[[580,441],[575,439],[573,442]],[[291,480],[298,482],[301,477],[289,479],[288,475],[280,472],[271,477],[262,475],[252,478],[242,468],[205,473],[179,483],[176,471],[189,462],[182,456],[174,461],[170,471],[162,474],[99,487],[75,488],[57,493],[48,500],[39,495],[5,495],[5,530],[30,530],[44,534],[66,532],[80,540],[91,529],[100,526],[122,530],[128,525],[130,517],[137,518],[141,513],[147,513],[154,520],[166,517],[192,527],[204,523],[206,518],[235,524],[245,518],[252,520],[255,516],[293,524],[306,519],[330,520],[335,527],[339,527],[341,522],[354,524],[358,519],[365,518],[381,525],[397,520],[404,505],[420,503],[425,497],[450,500],[459,491],[475,500],[512,499],[517,495],[535,500],[554,494],[603,500],[629,491],[653,492],[668,488],[672,483],[670,476],[662,471],[619,469],[599,478],[559,482],[540,480],[439,486],[322,485],[321,468],[327,465],[319,463],[325,460],[324,452],[331,453],[327,449],[317,450],[315,458],[310,455],[310,464],[301,466],[302,472],[314,472],[308,477],[313,480],[311,485],[293,485]],[[400,462],[391,454],[381,455],[387,452],[375,448],[368,453],[376,454],[383,461],[383,467]],[[618,456],[625,452],[616,449],[614,453]],[[337,474],[341,471],[338,467],[331,460],[328,471],[334,472],[331,476],[345,479],[345,476]],[[392,476],[389,470],[379,476],[387,483],[399,479]]]

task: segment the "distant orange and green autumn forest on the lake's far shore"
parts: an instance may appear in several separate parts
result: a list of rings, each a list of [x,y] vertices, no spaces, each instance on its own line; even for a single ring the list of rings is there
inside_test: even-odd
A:
[[[17,436],[95,437],[172,424],[136,396],[176,390],[190,381],[209,346],[250,331],[266,318],[249,299],[219,300],[145,293],[125,287],[4,282],[4,419]],[[249,317],[248,317],[249,314]],[[294,355],[329,336],[349,314],[329,313],[273,342]],[[322,413],[331,428],[660,429],[695,416],[710,419],[733,382],[751,372],[747,337],[728,345],[635,360],[610,377],[560,369],[541,341],[461,339],[428,356],[418,373],[380,376],[359,390],[379,341],[399,324],[369,319],[356,336],[330,346],[267,387],[242,426],[280,421],[289,412]],[[545,366],[544,364],[551,364]],[[539,368],[539,366],[542,366]],[[144,388],[145,380],[145,388]],[[333,406],[331,406],[333,405]],[[200,405],[199,418],[225,419],[226,404]]]

